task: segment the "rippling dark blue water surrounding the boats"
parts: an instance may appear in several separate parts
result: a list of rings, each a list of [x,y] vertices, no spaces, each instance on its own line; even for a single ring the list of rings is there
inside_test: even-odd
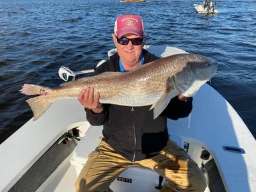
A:
[[[93,68],[113,48],[118,15],[144,20],[147,44],[170,45],[219,63],[211,86],[256,138],[256,1],[218,1],[200,15],[200,1],[120,3],[118,0],[0,0],[0,143],[33,116],[24,83],[58,86],[58,68]]]

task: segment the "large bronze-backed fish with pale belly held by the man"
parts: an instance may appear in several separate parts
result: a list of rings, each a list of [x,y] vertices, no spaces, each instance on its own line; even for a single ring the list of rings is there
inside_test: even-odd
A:
[[[52,88],[24,84],[21,93],[39,95],[26,100],[34,120],[42,116],[57,99],[77,99],[81,90],[91,87],[100,93],[99,102],[121,106],[151,106],[154,119],[170,100],[179,95],[193,95],[209,81],[218,64],[199,54],[175,54],[161,58],[129,72],[103,72]],[[95,96],[95,95],[94,95]]]

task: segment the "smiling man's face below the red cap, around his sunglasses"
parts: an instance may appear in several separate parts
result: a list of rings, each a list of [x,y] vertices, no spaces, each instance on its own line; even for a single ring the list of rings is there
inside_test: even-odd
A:
[[[125,65],[128,65],[129,67],[133,67],[135,63],[138,63],[141,60],[141,51],[143,44],[132,45],[132,42],[129,41],[127,45],[121,45],[118,44],[116,36],[114,34],[112,36],[116,45],[116,50],[118,52],[118,55],[120,56],[120,60],[122,63],[125,63]],[[124,37],[138,38],[140,36],[129,33],[124,35]]]

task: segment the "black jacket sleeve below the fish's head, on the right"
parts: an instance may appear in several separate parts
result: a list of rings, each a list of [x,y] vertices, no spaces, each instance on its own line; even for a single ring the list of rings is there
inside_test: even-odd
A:
[[[178,97],[173,97],[173,99],[170,100],[168,106],[166,106],[161,115],[164,115],[167,118],[173,120],[187,117],[189,116],[193,108],[192,101],[192,97],[189,97],[187,101],[181,101],[178,99]]]

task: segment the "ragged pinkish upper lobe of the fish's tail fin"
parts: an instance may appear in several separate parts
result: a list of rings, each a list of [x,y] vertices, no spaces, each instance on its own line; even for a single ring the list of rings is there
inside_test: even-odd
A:
[[[36,84],[24,84],[20,92],[25,95],[47,95],[51,92],[51,88]]]

